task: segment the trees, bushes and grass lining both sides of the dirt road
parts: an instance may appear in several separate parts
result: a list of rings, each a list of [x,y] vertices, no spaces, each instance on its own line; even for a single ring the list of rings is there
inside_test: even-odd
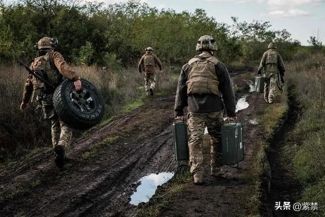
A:
[[[286,87],[293,86],[290,91],[302,106],[291,133],[296,142],[291,150],[294,169],[303,186],[301,201],[318,202],[319,213],[325,215],[324,48],[314,36],[308,41],[310,46],[301,46],[286,29],[273,30],[267,21],[247,22],[237,17],[232,20],[232,24],[220,23],[202,9],[178,13],[158,10],[141,1],[105,5],[63,0],[13,3],[0,0],[0,163],[28,157],[28,152],[34,153],[31,150],[51,146],[50,126],[41,120],[42,112],[35,111],[37,103],[31,103],[25,114],[19,111],[27,73],[16,61],[27,63],[33,58],[36,55],[33,45],[42,37],[58,38],[57,51],[82,78],[100,89],[106,102],[106,116],[100,126],[110,122],[114,115],[146,103],[144,79],[136,65],[148,46],[155,49],[164,64],[163,72],[157,73],[155,95],[159,97],[175,92],[180,68],[196,55],[194,47],[202,35],[212,35],[218,44],[216,56],[227,66],[236,67],[256,67],[268,43],[274,40],[287,63]],[[235,83],[238,93],[246,91],[242,76]],[[261,174],[269,170],[268,140],[288,110],[285,91],[280,103],[268,106],[261,117],[266,142],[254,153],[250,180],[255,188],[248,202],[251,214],[257,214],[261,206]],[[108,138],[95,144],[82,158],[91,159],[97,147],[117,140]],[[182,185],[177,186],[177,180]],[[186,188],[190,176],[177,180],[169,183],[174,192]],[[152,213],[161,207],[154,207]]]

